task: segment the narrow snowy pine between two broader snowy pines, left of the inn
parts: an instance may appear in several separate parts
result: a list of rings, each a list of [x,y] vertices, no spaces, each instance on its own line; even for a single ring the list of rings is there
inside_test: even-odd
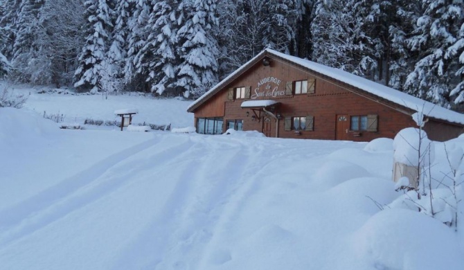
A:
[[[150,19],[152,11],[151,0],[127,0],[130,8],[130,17],[127,19],[127,28],[130,32],[127,35],[127,57],[125,57],[124,78],[125,84],[130,91],[148,91],[148,86],[145,79],[147,73],[139,73],[142,71],[136,66],[135,59],[137,53],[143,46],[150,33],[147,32],[145,26]]]

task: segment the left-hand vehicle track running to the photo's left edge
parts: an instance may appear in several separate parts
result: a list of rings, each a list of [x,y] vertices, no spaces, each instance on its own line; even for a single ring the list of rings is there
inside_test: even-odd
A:
[[[162,136],[134,145],[99,161],[73,177],[64,179],[56,186],[0,212],[0,249],[10,242],[29,235],[47,224],[78,210],[93,201],[132,181],[131,174],[147,168],[149,160],[132,160],[145,150],[154,150],[155,156],[163,156],[166,162],[176,149],[183,150],[188,142],[164,142]],[[123,165],[122,165],[123,164]]]

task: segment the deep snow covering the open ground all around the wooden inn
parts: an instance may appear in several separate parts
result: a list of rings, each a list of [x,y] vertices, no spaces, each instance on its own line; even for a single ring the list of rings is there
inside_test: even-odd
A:
[[[193,115],[183,100],[15,92],[31,96],[0,108],[0,269],[464,269],[464,204],[456,232],[395,192],[391,139],[59,129],[43,111],[82,124],[136,108],[134,122],[174,127]]]

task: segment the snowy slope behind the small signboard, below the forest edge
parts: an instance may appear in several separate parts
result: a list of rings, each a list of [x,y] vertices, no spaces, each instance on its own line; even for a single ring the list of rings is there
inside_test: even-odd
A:
[[[4,83],[3,83],[4,84]],[[120,121],[114,111],[121,109],[138,109],[139,114],[133,118],[135,124],[169,125],[172,128],[193,125],[193,114],[186,112],[191,100],[179,99],[156,99],[147,96],[131,95],[109,95],[93,96],[66,94],[64,89],[51,89],[49,87],[36,87],[30,89],[26,86],[9,87],[12,93],[23,93],[30,96],[25,108],[37,111],[42,116],[62,116],[64,123],[83,124],[84,120]],[[0,82],[2,89],[2,82]],[[52,92],[42,93],[44,91]],[[51,102],[50,100],[53,100]],[[92,127],[89,127],[92,128]]]

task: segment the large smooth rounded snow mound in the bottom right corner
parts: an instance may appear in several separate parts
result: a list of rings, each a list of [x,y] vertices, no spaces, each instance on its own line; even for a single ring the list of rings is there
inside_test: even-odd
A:
[[[375,269],[457,270],[464,265],[452,229],[411,210],[377,213],[353,234],[351,242],[359,259]]]

